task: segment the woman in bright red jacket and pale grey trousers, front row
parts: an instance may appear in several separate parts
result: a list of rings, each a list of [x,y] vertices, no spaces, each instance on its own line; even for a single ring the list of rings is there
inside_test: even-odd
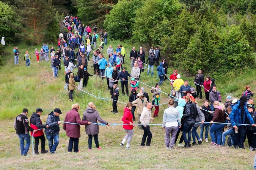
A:
[[[132,103],[129,102],[126,105],[126,108],[124,108],[124,115],[122,118],[122,121],[124,122],[124,124],[128,124],[128,125],[123,125],[124,130],[127,132],[126,136],[124,137],[123,141],[121,142],[121,147],[124,147],[124,143],[127,140],[127,144],[126,144],[126,149],[130,148],[130,142],[132,140],[132,135],[133,135],[133,122],[132,122]]]

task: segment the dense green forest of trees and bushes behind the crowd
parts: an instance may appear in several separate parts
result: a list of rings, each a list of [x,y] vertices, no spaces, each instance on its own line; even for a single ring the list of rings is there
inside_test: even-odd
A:
[[[67,14],[108,38],[158,45],[170,66],[188,74],[255,65],[255,0],[2,0],[0,34],[7,44],[55,43]]]

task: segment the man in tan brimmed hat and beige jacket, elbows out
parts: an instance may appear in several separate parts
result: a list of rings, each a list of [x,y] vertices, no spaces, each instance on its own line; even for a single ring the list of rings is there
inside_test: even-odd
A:
[[[138,109],[137,109],[138,124],[141,124],[141,122],[140,122],[141,112],[143,110],[143,107],[145,107],[146,104],[148,103],[148,100],[146,99],[146,97],[144,97],[144,94],[142,92],[138,93],[137,96],[139,96],[139,98],[134,100],[132,102],[132,104],[133,104],[133,106],[138,107]],[[138,127],[139,127],[139,130],[141,130],[141,125],[139,125]]]

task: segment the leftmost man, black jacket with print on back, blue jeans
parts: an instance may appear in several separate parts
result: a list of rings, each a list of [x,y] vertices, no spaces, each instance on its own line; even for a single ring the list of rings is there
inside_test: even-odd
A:
[[[16,130],[16,134],[19,136],[20,139],[20,151],[21,156],[27,156],[28,150],[30,147],[30,135],[28,131],[36,132],[36,130],[32,129],[28,125],[28,110],[24,108],[22,113],[15,118],[14,121],[14,128]],[[26,141],[26,146],[24,147],[24,140]]]

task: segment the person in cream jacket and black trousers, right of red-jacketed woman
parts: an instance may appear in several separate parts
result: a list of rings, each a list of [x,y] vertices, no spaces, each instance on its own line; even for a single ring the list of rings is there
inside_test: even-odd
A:
[[[146,107],[143,107],[143,110],[141,112],[140,122],[142,124],[141,127],[144,131],[143,137],[142,137],[142,140],[141,140],[141,144],[140,144],[141,146],[145,146],[145,142],[146,142],[147,137],[148,137],[148,139],[147,139],[147,142],[146,142],[146,146],[150,146],[150,144],[151,144],[152,133],[150,131],[149,123],[150,123],[150,121],[154,121],[154,118],[151,117],[151,108],[152,108],[152,104],[150,102],[148,102]]]

